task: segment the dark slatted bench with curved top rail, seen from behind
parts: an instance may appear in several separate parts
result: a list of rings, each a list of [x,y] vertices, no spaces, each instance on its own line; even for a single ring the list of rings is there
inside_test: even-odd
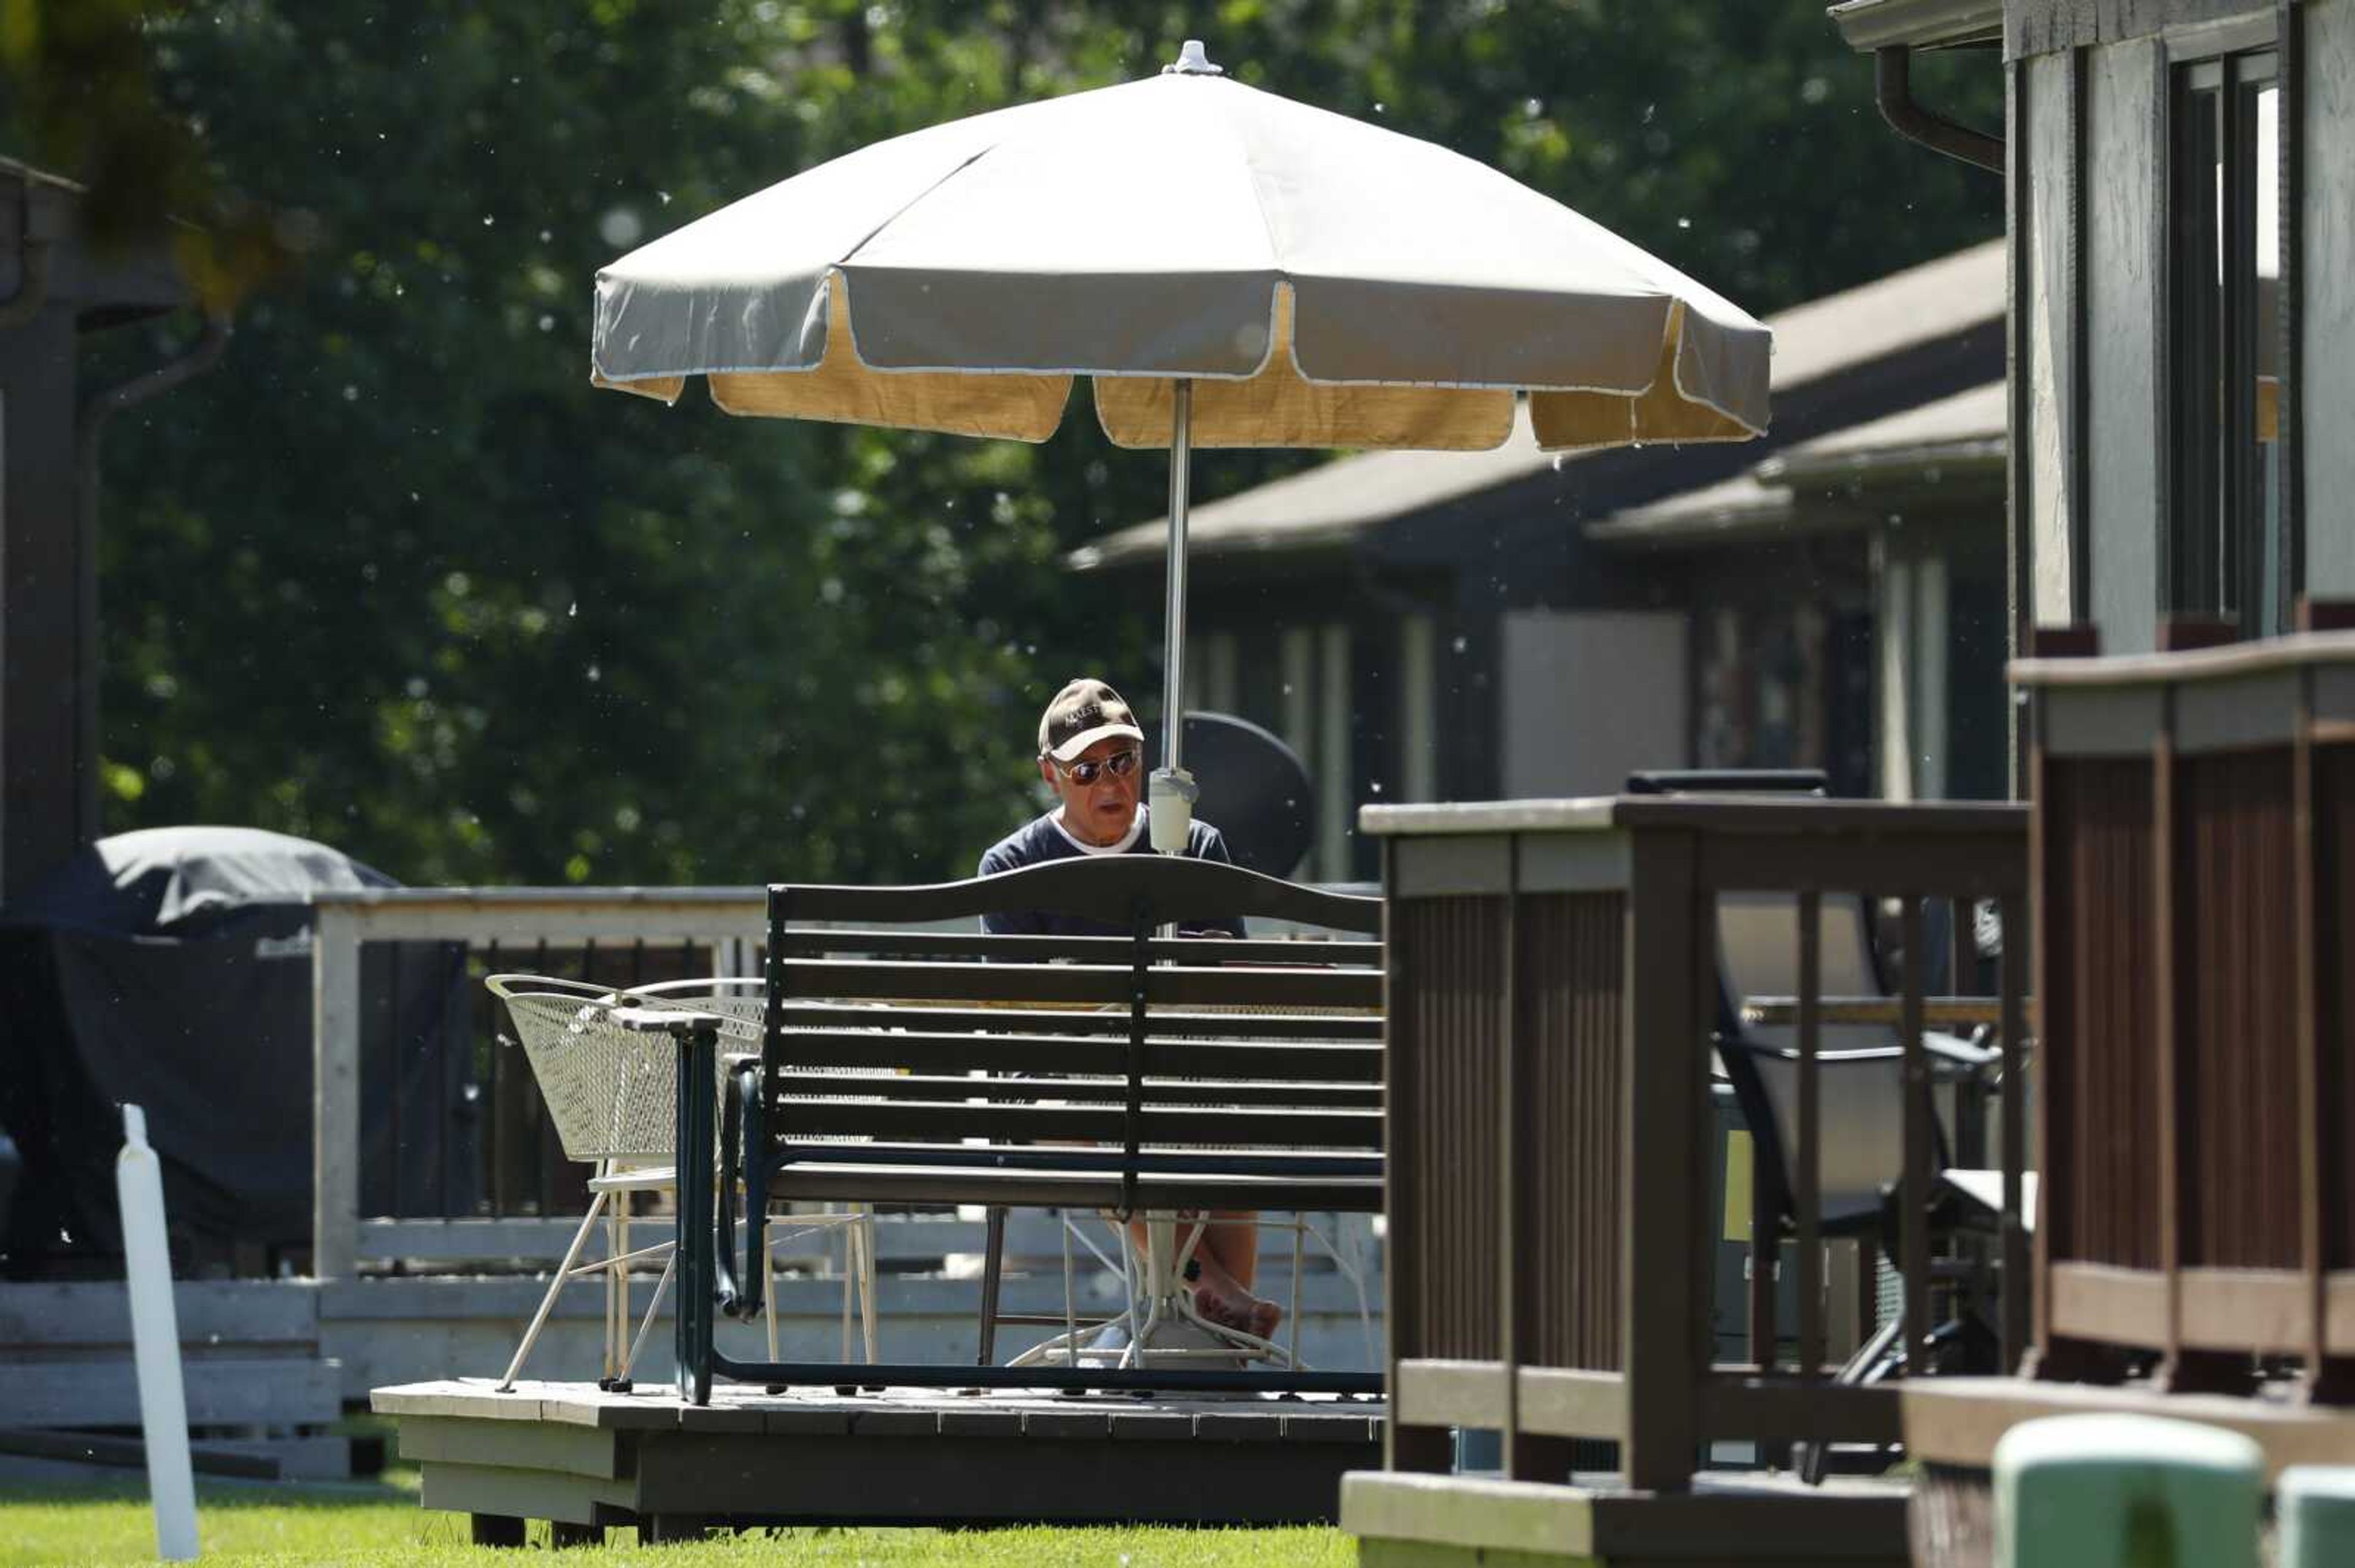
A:
[[[1057,911],[1119,935],[942,930]],[[1241,916],[1340,939],[1170,937]],[[1104,1210],[1382,1208],[1380,899],[1236,866],[1112,855],[933,888],[768,890],[758,1057],[728,1064],[718,1194],[688,1156],[678,1354],[770,1387],[1283,1389],[1375,1394],[1380,1373],[1243,1366],[749,1363],[714,1309],[761,1309],[765,1201]],[[820,925],[822,923],[822,925]],[[681,1149],[711,1149],[716,1022],[683,1038]],[[732,1257],[739,1191],[754,1222]]]

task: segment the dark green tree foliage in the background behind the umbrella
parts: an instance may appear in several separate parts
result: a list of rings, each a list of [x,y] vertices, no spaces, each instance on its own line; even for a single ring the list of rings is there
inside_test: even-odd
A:
[[[73,66],[59,19],[99,14],[137,47]],[[40,87],[0,146],[92,174],[101,214],[268,214],[224,299],[299,259],[219,370],[108,433],[111,826],[252,822],[407,881],[970,866],[1029,808],[1048,690],[1156,685],[1159,603],[1057,560],[1156,516],[1161,461],[1083,410],[1020,447],[596,393],[591,278],[878,137],[1145,75],[1187,31],[1754,311],[1997,228],[1995,181],[1877,125],[1816,0],[0,0],[0,64]],[[1995,122],[1990,64],[1919,78]],[[125,137],[172,181],[125,177]],[[85,374],[165,334],[106,334]],[[1196,494],[1302,461],[1210,454]]]

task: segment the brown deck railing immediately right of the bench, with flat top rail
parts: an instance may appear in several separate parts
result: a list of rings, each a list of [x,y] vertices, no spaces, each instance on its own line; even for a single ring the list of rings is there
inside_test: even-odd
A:
[[[1498,1429],[1507,1476],[1564,1481],[1611,1439],[1627,1486],[1681,1490],[1707,1441],[1893,1441],[1889,1387],[1835,1387],[1825,1347],[1818,913],[1896,904],[1903,951],[1905,1340],[1931,1333],[1931,954],[1924,902],[1992,902],[2002,1041],[2025,1041],[2028,812],[1757,798],[1368,808],[1389,899],[1392,1469]],[[1717,899],[1797,899],[1797,1347],[1776,1349],[1754,1238],[1752,1358],[1710,1333]],[[1959,972],[1959,970],[1957,970]],[[1952,982],[1950,982],[1952,984]],[[2004,1340],[2025,1333],[2023,1074],[2002,1074]],[[1759,1318],[1766,1318],[1764,1323]],[[2009,1354],[2006,1354],[2009,1366]]]

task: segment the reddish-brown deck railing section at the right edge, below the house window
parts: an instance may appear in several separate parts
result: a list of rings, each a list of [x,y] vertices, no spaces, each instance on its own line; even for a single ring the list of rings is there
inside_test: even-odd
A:
[[[2355,633],[2032,659],[2037,1358],[2355,1398]],[[2155,1366],[2145,1366],[2152,1363]]]

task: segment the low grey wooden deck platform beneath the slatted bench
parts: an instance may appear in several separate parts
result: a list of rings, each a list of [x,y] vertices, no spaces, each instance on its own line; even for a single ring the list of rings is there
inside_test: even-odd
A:
[[[1364,1398],[780,1394],[492,1380],[374,1389],[429,1509],[478,1540],[549,1519],[568,1537],[638,1526],[1326,1523],[1340,1479],[1382,1462]]]

